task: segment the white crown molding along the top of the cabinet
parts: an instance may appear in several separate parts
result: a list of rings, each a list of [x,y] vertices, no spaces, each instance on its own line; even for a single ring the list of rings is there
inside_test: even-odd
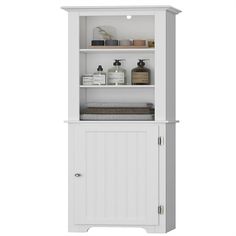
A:
[[[128,11],[169,11],[174,14],[178,14],[181,11],[172,7],[172,6],[62,6],[62,9],[71,12],[71,11],[119,11],[119,10],[128,10]]]

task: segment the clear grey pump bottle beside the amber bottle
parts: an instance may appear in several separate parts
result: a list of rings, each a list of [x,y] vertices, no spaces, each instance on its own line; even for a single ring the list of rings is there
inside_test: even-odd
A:
[[[126,70],[121,67],[123,59],[115,59],[112,68],[108,70],[108,84],[124,85],[126,84]]]

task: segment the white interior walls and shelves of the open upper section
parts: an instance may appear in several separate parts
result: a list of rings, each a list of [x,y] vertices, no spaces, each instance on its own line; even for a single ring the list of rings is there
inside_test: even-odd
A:
[[[82,85],[80,82],[80,111],[88,103],[151,103],[155,104],[155,56],[156,48],[135,46],[91,46],[93,29],[110,25],[117,31],[117,39],[155,40],[155,16],[126,15],[117,16],[80,16],[79,65],[80,77],[93,74],[98,65],[107,72],[113,66],[114,59],[124,59],[122,67],[126,70],[126,85]],[[149,85],[132,85],[131,70],[137,67],[138,59],[148,59],[151,70]]]

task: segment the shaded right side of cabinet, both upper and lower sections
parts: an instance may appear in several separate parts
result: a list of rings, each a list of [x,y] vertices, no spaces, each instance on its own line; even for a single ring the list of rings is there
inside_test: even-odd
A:
[[[175,120],[175,16],[166,13],[166,119]],[[175,228],[175,124],[166,126],[166,230]]]

